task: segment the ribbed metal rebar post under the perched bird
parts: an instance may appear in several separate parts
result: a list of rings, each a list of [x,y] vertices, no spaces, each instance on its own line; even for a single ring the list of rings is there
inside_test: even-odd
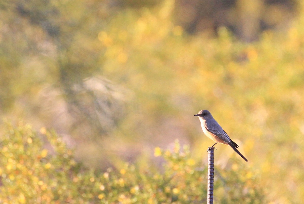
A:
[[[214,176],[214,149],[208,148],[208,187],[207,187],[207,204],[213,204],[213,176]]]

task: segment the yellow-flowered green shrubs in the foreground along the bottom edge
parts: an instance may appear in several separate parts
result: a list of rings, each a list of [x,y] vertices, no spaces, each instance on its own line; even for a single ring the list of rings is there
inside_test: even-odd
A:
[[[7,124],[0,148],[1,203],[202,203],[206,202],[206,166],[175,142],[173,151],[155,148],[156,165],[125,163],[96,172],[74,160],[62,138],[22,122]],[[42,142],[45,140],[45,142]],[[216,169],[215,201],[264,203],[252,171],[237,161]],[[220,178],[220,179],[219,179]],[[224,192],[224,193],[223,193]]]

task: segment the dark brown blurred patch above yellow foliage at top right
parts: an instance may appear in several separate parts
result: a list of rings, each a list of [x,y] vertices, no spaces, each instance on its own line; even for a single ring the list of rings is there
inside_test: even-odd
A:
[[[189,33],[216,34],[228,27],[245,41],[257,40],[268,29],[284,29],[298,13],[297,0],[177,0],[174,19]]]

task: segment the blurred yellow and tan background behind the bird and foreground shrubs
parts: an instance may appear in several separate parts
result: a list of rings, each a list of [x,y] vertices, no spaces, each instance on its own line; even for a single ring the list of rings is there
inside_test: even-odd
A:
[[[106,169],[175,139],[207,161],[213,141],[193,116],[207,109],[268,199],[304,200],[302,1],[12,0],[0,9],[2,118],[53,128],[78,161]],[[238,157],[217,148],[217,165]]]

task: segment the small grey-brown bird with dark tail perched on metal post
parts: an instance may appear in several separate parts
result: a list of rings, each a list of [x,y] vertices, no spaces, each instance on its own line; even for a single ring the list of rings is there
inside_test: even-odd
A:
[[[214,145],[216,145],[217,143],[227,144],[234,151],[236,151],[237,154],[240,155],[245,161],[248,161],[237,149],[239,148],[239,145],[237,145],[237,143],[230,139],[228,134],[223,130],[219,123],[214,120],[208,110],[201,110],[198,114],[194,116],[199,117],[199,120],[201,121],[202,130],[206,134],[206,136],[216,142],[215,144],[213,144],[212,147],[214,147]]]

